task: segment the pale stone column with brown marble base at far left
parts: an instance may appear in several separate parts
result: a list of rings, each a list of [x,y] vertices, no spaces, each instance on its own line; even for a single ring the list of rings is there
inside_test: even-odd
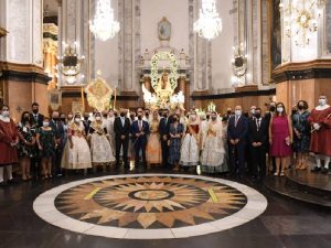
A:
[[[17,120],[22,110],[31,109],[32,101],[47,115],[50,78],[42,68],[42,0],[1,0],[0,26],[9,31],[0,55],[4,103]]]

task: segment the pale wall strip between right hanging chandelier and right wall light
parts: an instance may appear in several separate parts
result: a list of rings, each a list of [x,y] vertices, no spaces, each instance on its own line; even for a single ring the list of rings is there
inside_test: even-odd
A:
[[[223,31],[212,41],[212,87],[214,93],[231,88],[233,75],[231,60],[234,57],[234,28],[233,15],[229,14],[232,1],[217,1],[217,11],[223,22]]]

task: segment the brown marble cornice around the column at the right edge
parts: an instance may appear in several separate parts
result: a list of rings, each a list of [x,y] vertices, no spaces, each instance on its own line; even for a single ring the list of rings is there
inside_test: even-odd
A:
[[[275,83],[311,78],[331,78],[331,60],[284,64],[273,71],[271,78]]]

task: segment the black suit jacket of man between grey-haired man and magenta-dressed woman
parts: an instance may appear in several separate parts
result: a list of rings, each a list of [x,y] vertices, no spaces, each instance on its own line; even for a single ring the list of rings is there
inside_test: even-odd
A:
[[[256,120],[250,119],[248,127],[249,144],[252,144],[253,142],[261,142],[263,144],[266,144],[268,142],[268,121],[265,118],[261,118],[260,127],[258,130]]]

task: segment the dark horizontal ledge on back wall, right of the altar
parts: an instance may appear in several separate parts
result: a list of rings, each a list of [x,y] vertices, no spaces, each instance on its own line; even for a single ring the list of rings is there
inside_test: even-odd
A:
[[[273,96],[276,95],[276,88],[266,90],[254,90],[254,91],[237,91],[237,93],[226,93],[220,95],[209,95],[207,91],[193,93],[193,100],[215,100],[215,99],[226,99],[226,98],[239,98],[248,96]]]

